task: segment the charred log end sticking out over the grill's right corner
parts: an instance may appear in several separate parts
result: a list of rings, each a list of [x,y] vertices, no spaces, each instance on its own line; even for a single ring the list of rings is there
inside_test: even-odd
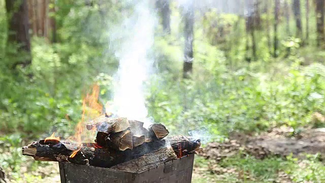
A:
[[[178,158],[195,153],[201,146],[200,139],[193,139],[183,135],[168,137],[166,141],[171,144]]]

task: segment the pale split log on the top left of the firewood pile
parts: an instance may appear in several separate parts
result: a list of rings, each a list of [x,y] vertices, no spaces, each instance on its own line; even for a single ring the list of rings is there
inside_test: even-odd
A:
[[[126,130],[130,127],[128,120],[125,117],[106,117],[102,115],[86,125],[88,130],[97,130],[107,133],[117,133]]]

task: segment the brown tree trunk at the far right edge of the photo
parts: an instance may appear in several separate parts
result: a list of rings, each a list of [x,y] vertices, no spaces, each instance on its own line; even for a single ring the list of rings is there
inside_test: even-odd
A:
[[[316,0],[317,46],[324,41],[324,0]]]

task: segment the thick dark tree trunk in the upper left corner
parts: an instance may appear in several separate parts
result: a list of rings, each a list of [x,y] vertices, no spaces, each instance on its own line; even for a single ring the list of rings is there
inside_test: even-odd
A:
[[[14,63],[12,69],[18,65],[25,67],[31,64],[27,0],[6,0],[6,10],[9,22],[8,42],[19,44],[18,50],[26,52],[28,57]]]

